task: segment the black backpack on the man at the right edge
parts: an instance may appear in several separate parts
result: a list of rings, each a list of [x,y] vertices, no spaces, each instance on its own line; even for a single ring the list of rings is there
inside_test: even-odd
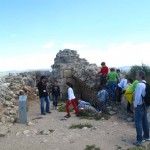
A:
[[[143,83],[146,85],[146,88],[145,88],[146,94],[145,94],[145,96],[142,96],[142,98],[143,98],[145,104],[147,106],[150,106],[150,85],[145,82],[143,82]]]

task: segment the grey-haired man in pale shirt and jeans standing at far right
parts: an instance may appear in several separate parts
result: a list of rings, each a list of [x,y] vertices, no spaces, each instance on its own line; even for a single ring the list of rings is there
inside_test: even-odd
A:
[[[147,119],[147,106],[144,103],[143,97],[146,95],[146,75],[142,70],[137,71],[136,78],[139,81],[135,88],[134,108],[135,108],[135,126],[137,137],[133,142],[134,145],[141,145],[145,141],[150,141],[149,124]],[[144,83],[143,83],[144,82]],[[142,129],[144,134],[142,135]]]

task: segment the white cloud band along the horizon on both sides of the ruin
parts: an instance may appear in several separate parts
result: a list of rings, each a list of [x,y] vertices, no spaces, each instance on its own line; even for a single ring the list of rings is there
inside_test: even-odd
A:
[[[70,48],[72,49],[72,48]],[[109,67],[131,66],[145,63],[150,65],[150,43],[132,44],[109,44],[108,47],[93,49],[91,47],[78,48],[81,58],[86,58],[90,63],[100,65],[105,61]],[[0,59],[0,71],[50,68],[59,50],[45,50],[23,57],[7,56]]]

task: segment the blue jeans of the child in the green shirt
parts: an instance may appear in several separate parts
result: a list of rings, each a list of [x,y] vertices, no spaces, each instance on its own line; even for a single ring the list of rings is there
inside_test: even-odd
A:
[[[115,100],[116,97],[116,87],[117,87],[117,82],[109,81],[108,84],[106,85],[106,90],[112,100]]]

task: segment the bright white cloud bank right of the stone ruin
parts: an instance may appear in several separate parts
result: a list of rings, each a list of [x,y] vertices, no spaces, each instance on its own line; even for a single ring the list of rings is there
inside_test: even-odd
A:
[[[100,65],[102,61],[105,61],[108,66],[114,67],[141,63],[150,65],[149,53],[150,43],[132,44],[130,42],[110,44],[106,49],[88,48],[79,51],[80,56],[91,63]]]

